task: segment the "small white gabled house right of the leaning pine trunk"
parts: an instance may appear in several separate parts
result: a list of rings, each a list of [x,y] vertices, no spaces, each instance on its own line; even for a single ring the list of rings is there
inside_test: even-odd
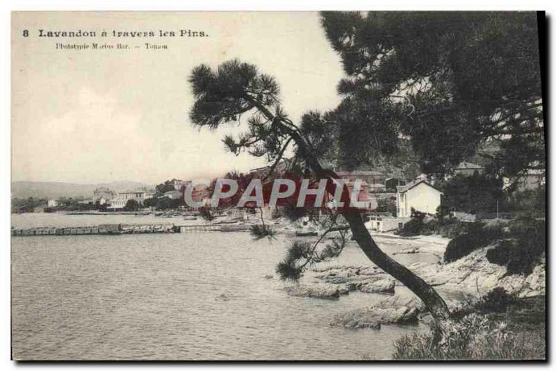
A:
[[[423,179],[398,186],[397,189],[395,199],[398,217],[410,217],[411,208],[421,213],[434,214],[441,204],[442,192]]]

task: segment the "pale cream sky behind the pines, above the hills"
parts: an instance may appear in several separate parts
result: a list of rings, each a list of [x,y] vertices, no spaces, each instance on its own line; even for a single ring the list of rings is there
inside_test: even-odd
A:
[[[81,29],[97,37],[44,38],[40,29]],[[111,35],[182,29],[208,37]],[[131,49],[76,51],[56,49],[57,42],[119,42]],[[145,42],[168,49],[147,50]],[[225,151],[222,138],[240,127],[199,130],[188,119],[191,69],[232,58],[275,76],[294,122],[306,110],[339,103],[340,58],[318,13],[13,13],[12,181],[154,184],[265,165],[262,158]]]

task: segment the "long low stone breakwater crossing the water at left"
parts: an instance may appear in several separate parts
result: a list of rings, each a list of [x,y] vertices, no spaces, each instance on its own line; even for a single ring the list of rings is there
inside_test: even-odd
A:
[[[13,228],[12,236],[74,236],[88,234],[119,235],[130,233],[178,233],[174,224],[100,224],[98,226],[38,226]]]

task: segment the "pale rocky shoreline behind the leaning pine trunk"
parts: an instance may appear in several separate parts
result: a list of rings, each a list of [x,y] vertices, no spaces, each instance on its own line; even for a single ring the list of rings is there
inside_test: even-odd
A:
[[[378,235],[377,238],[399,238],[395,235]],[[401,242],[401,241],[400,241]],[[407,240],[407,246],[391,255],[433,254],[435,263],[418,262],[407,267],[425,281],[435,286],[451,310],[464,308],[496,287],[505,288],[517,297],[545,295],[545,262],[534,267],[528,276],[507,275],[506,267],[489,263],[486,250],[477,249],[452,263],[443,263],[441,256],[447,238],[423,236]],[[412,243],[413,242],[413,243]],[[425,242],[425,243],[423,243]],[[345,313],[336,313],[330,325],[351,329],[379,329],[384,324],[417,324],[432,320],[423,303],[402,283],[375,266],[332,265],[313,267],[312,282],[286,287],[289,295],[318,299],[341,299],[350,292],[368,292],[384,295],[373,305]],[[402,290],[403,288],[403,290]]]

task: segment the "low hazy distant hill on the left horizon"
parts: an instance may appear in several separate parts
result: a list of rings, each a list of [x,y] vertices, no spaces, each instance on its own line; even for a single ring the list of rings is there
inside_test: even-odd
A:
[[[116,192],[139,187],[154,188],[137,181],[113,181],[110,183],[77,184],[54,181],[15,181],[12,182],[12,197],[15,198],[54,198],[54,197],[85,197],[92,196],[92,191],[99,187],[110,188]]]

